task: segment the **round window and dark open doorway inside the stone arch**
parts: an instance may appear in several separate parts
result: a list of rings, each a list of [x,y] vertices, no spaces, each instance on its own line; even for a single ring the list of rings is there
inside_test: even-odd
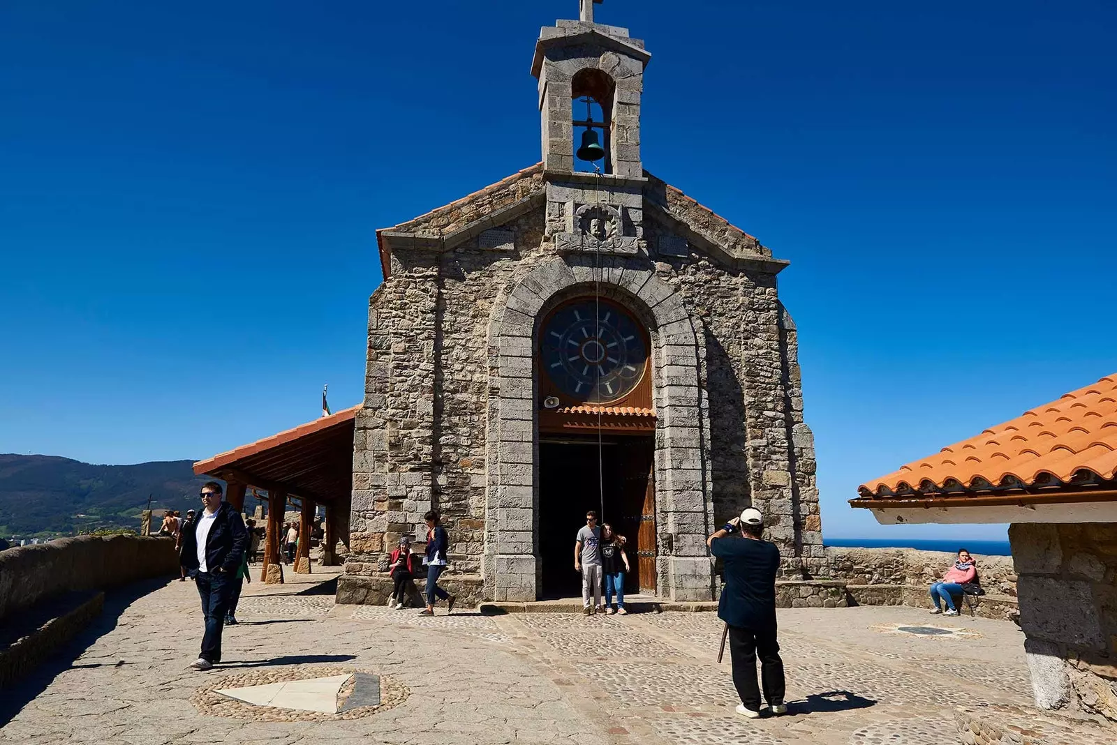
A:
[[[626,538],[624,592],[655,594],[651,337],[617,299],[583,294],[548,304],[535,344],[540,594],[581,591],[572,548],[589,510]]]

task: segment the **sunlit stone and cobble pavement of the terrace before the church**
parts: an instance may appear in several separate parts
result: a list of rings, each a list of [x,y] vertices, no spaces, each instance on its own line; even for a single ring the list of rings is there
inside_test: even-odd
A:
[[[1023,636],[987,619],[949,619],[973,636],[882,632],[942,626],[911,608],[787,609],[780,642],[791,714],[743,719],[714,613],[486,617],[471,610],[334,606],[330,574],[254,583],[226,629],[225,664],[187,666],[201,615],[190,582],[135,588],[65,655],[0,702],[0,742],[392,743],[474,745],[930,745],[955,742],[956,704],[1031,703]],[[360,668],[410,695],[352,720],[248,722],[191,697],[252,670],[307,677]],[[9,691],[4,691],[7,696]]]

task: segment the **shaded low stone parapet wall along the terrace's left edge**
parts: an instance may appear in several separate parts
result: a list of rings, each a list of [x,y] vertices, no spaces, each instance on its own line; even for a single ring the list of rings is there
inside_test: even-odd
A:
[[[37,602],[77,590],[104,590],[176,574],[169,538],[135,535],[65,538],[0,551],[0,621]]]

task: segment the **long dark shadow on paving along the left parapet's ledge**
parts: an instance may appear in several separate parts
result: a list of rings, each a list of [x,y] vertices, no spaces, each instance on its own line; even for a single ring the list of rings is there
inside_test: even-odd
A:
[[[90,665],[74,665],[74,661],[88,649],[93,642],[116,628],[116,622],[124,610],[135,600],[152,593],[178,580],[178,577],[164,577],[152,580],[132,582],[122,588],[105,591],[105,607],[101,616],[93,619],[89,626],[79,631],[67,644],[59,647],[31,673],[4,688],[0,695],[0,725],[8,724],[29,702],[47,689],[47,686],[59,673],[76,667],[94,667]],[[126,664],[126,662],[125,662]],[[99,665],[99,664],[98,664]],[[104,665],[121,666],[121,661],[104,662]]]

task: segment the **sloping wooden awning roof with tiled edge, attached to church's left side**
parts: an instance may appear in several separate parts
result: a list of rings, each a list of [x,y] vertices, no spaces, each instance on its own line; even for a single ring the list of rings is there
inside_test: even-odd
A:
[[[353,426],[360,406],[241,445],[194,464],[194,473],[321,504],[347,502],[353,488]]]

